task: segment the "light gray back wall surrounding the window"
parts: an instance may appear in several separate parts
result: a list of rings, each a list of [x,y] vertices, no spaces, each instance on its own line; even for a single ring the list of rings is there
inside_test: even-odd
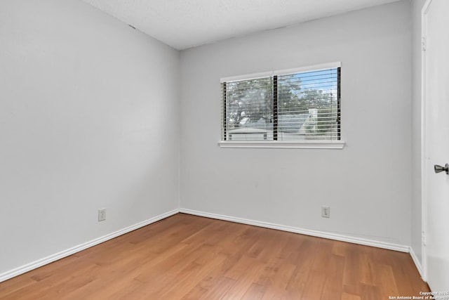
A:
[[[409,245],[410,22],[401,1],[182,51],[181,208]],[[344,150],[217,146],[220,77],[334,61]]]

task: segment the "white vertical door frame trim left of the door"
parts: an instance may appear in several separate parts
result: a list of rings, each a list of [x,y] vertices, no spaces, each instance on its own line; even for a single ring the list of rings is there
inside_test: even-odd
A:
[[[427,170],[429,169],[429,162],[426,152],[427,145],[427,103],[426,98],[426,16],[429,11],[429,7],[432,0],[427,0],[422,6],[421,11],[421,228],[422,228],[422,242],[421,242],[421,253],[422,253],[422,280],[427,282],[427,249],[426,249],[426,233],[427,233],[427,190],[429,186],[429,178],[427,176]]]

